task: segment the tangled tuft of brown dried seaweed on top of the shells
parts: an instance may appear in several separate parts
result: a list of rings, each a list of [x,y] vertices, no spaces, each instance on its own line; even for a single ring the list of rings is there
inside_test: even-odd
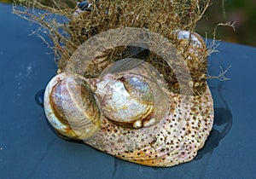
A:
[[[73,52],[89,38],[100,32],[114,28],[139,27],[156,32],[168,38],[183,55],[189,67],[195,95],[206,90],[207,56],[211,49],[201,48],[201,55],[193,55],[190,41],[181,41],[175,35],[178,31],[195,31],[196,22],[201,19],[210,0],[94,0],[89,1],[93,6],[89,11],[78,13],[78,5],[73,1],[26,1],[19,2],[26,10],[14,9],[15,14],[36,22],[41,30],[52,39],[51,48],[55,52],[59,72],[65,68]],[[46,10],[36,14],[33,8]],[[61,20],[58,17],[61,15]],[[65,17],[65,18],[64,18]],[[104,55],[90,64],[85,78],[95,78],[113,61],[125,56],[125,51],[132,47],[121,46],[108,49]],[[168,87],[179,92],[177,78],[166,61],[150,52],[147,61],[151,63],[166,79]]]

